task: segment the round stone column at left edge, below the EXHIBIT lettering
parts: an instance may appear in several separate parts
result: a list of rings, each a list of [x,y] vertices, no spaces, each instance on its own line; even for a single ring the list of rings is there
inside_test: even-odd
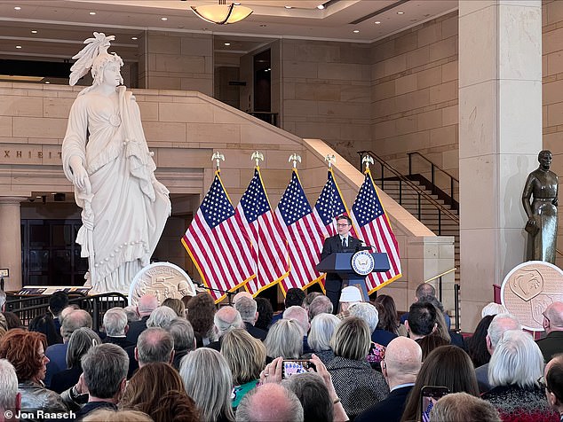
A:
[[[21,288],[21,217],[20,196],[0,196],[0,268],[10,270],[4,278],[5,290]]]

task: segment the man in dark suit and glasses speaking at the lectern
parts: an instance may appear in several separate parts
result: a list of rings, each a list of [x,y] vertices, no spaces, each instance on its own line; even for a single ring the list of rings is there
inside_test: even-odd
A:
[[[336,252],[356,252],[361,247],[361,240],[350,236],[350,229],[352,229],[352,220],[347,215],[340,215],[337,217],[337,230],[336,236],[326,238],[322,246],[321,261],[329,254]],[[338,301],[340,301],[340,292],[342,291],[342,278],[337,274],[327,274],[325,281],[325,289],[327,296],[332,302],[333,313],[338,313]]]

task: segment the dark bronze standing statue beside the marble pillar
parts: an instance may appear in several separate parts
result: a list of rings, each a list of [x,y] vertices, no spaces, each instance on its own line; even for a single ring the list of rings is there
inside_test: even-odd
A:
[[[555,263],[558,177],[550,170],[551,151],[537,154],[540,166],[527,176],[522,204],[527,214],[527,261]],[[530,203],[530,199],[532,202]]]

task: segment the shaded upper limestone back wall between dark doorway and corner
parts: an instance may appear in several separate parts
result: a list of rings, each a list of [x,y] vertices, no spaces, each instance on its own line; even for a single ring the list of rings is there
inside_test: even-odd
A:
[[[346,160],[371,139],[369,44],[281,40],[281,128]]]

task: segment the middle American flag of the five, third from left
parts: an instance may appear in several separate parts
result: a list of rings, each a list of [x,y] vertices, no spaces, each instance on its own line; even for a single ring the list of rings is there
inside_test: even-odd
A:
[[[293,287],[303,289],[313,285],[321,279],[316,267],[321,257],[322,228],[295,168],[275,214],[286,234],[289,250],[289,276],[281,280],[281,289],[285,293]]]

